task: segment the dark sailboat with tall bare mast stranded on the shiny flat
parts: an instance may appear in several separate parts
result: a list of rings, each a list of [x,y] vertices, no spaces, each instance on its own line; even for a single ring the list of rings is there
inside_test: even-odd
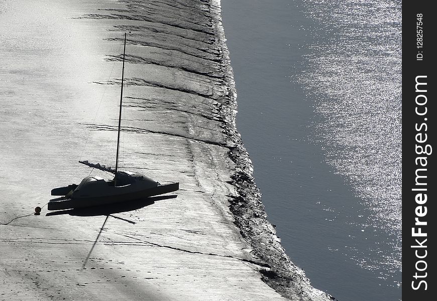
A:
[[[119,202],[127,202],[143,199],[151,196],[157,196],[179,189],[179,183],[160,184],[143,174],[137,172],[119,171],[119,149],[120,149],[120,131],[122,121],[122,102],[123,102],[123,80],[125,71],[125,53],[126,53],[126,33],[125,45],[123,50],[123,71],[122,71],[122,88],[120,95],[120,114],[117,137],[117,156],[116,167],[106,167],[105,165],[93,164],[88,161],[79,161],[89,167],[110,172],[114,174],[114,179],[104,180],[98,176],[85,177],[79,185],[71,184],[64,187],[52,189],[52,196],[61,196],[52,199],[48,203],[48,210],[62,210],[72,208],[83,208],[99,205],[107,205]]]

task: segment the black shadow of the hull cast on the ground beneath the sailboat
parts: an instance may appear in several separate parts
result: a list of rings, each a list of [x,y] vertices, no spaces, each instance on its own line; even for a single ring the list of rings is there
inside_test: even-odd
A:
[[[157,201],[166,200],[166,199],[175,199],[176,197],[177,197],[177,195],[156,196],[156,197],[149,197],[149,198],[140,199],[140,200],[120,202],[120,203],[114,203],[114,204],[108,204],[108,205],[60,210],[60,211],[49,212],[46,214],[46,216],[63,215],[63,214],[68,214],[71,216],[105,215],[105,216],[112,216],[114,218],[121,219],[121,220],[130,222],[130,223],[134,223],[134,222],[131,222],[129,220],[114,216],[112,214],[138,210],[138,209],[150,206],[152,204],[155,204],[155,202],[157,202]]]

